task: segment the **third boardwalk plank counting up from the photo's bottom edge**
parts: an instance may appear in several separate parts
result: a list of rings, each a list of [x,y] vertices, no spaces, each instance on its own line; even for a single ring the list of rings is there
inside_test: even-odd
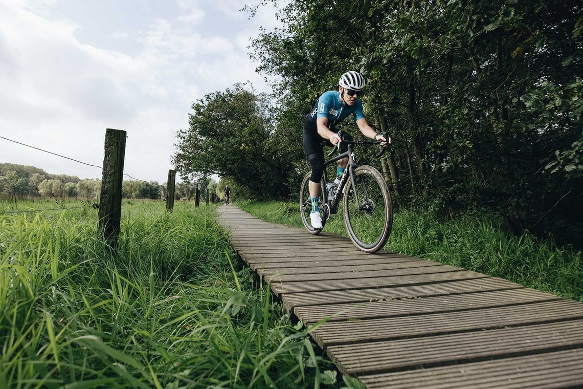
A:
[[[573,300],[560,300],[523,306],[418,315],[414,318],[329,321],[315,330],[312,336],[318,345],[325,347],[578,318],[583,318],[583,304]],[[583,341],[583,338],[581,340]]]

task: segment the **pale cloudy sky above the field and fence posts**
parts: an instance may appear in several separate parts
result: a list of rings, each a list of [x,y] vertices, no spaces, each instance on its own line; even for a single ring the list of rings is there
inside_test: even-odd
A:
[[[275,9],[240,10],[259,1],[0,0],[0,136],[103,166],[106,128],[122,129],[124,173],[165,183],[192,103],[247,80],[270,92],[248,46]],[[101,178],[0,138],[2,162]]]

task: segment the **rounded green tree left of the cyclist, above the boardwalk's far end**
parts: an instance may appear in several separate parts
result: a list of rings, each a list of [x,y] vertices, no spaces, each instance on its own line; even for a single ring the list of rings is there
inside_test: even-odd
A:
[[[173,156],[182,177],[196,181],[217,174],[252,197],[287,197],[292,164],[273,140],[275,117],[266,94],[237,84],[207,94],[192,110],[190,127],[178,131]]]

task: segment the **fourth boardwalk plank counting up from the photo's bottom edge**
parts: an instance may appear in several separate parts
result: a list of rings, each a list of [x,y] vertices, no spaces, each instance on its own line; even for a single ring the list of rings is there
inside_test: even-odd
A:
[[[534,302],[560,300],[561,297],[559,296],[552,295],[551,293],[542,293],[534,289],[509,289],[464,295],[431,296],[424,298],[409,297],[399,300],[304,306],[296,307],[294,313],[305,325],[311,325],[322,319],[345,321],[353,319],[388,318],[517,306]],[[414,319],[410,318],[409,320]]]

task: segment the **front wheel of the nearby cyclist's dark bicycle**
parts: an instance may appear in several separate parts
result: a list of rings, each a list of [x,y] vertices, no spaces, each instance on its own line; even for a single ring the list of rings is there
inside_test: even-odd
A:
[[[376,253],[387,243],[393,224],[389,188],[381,173],[372,166],[354,169],[354,184],[345,186],[344,223],[350,240],[365,253]]]

